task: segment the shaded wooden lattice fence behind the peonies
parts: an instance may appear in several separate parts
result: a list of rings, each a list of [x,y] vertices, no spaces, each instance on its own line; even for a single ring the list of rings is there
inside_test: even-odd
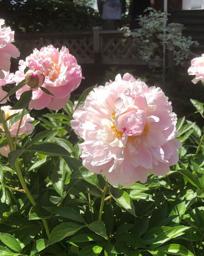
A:
[[[89,32],[53,34],[16,34],[15,45],[21,52],[21,59],[32,53],[34,48],[53,45],[68,47],[79,64],[146,64],[137,55],[132,38],[125,38],[122,31],[93,30]]]

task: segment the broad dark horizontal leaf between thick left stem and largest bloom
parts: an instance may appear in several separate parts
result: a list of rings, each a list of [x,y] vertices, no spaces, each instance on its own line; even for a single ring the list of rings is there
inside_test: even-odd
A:
[[[16,150],[17,151],[17,150]],[[41,142],[40,144],[33,145],[29,147],[26,151],[34,151],[40,154],[48,155],[48,156],[58,156],[58,157],[67,157],[69,156],[69,152],[65,150],[64,147],[61,147],[54,143],[49,142]]]

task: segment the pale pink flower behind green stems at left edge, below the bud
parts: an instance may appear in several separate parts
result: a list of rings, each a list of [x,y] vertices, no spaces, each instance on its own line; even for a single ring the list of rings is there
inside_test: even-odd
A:
[[[18,110],[12,110],[10,109],[11,106],[2,106],[1,110],[3,110],[5,117],[8,118],[11,115],[14,115],[16,113],[19,113],[22,111],[22,109],[18,109]],[[34,125],[32,125],[30,122],[33,122],[34,118],[32,118],[30,116],[30,114],[26,114],[24,115],[23,119],[22,119],[22,123],[20,126],[20,130],[19,130],[19,137],[21,137],[22,134],[31,134],[34,130]],[[19,121],[15,122],[14,124],[12,124],[11,126],[9,126],[9,120],[6,121],[7,125],[9,127],[9,131],[12,137],[15,137],[17,134],[17,130],[19,127]],[[4,131],[3,126],[0,125],[0,128]],[[9,146],[4,146],[4,147],[0,147],[0,154],[2,154],[3,156],[7,157],[9,154],[10,150],[9,150]]]

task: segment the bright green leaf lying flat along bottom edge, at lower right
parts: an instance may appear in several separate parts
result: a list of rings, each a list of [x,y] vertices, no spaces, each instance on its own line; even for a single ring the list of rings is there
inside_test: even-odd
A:
[[[166,246],[159,247],[158,251],[168,253],[170,255],[179,255],[179,256],[195,256],[189,250],[187,250],[184,246],[179,244],[168,244]]]

